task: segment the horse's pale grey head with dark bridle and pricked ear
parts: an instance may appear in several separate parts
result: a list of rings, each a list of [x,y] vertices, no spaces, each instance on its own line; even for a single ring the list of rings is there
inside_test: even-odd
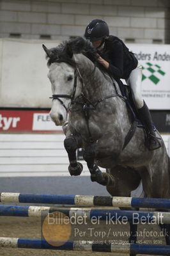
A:
[[[66,122],[71,101],[81,93],[72,48],[70,45],[65,45],[64,48],[56,47],[49,50],[43,45],[43,49],[49,58],[48,77],[52,85],[53,100],[50,117],[56,125],[63,125]]]

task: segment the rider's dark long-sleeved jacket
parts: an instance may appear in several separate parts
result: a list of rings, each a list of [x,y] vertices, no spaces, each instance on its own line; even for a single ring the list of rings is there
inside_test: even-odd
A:
[[[104,49],[100,55],[109,62],[109,74],[114,78],[127,79],[130,72],[137,67],[137,59],[120,38],[109,36],[105,39]]]

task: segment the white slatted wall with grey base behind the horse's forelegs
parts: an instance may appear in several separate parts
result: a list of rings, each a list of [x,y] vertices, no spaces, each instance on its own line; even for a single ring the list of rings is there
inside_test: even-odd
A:
[[[170,137],[162,137],[170,156]],[[0,191],[108,195],[104,186],[91,182],[85,161],[81,176],[70,177],[64,138],[64,134],[0,134]],[[141,188],[135,196],[140,193]]]

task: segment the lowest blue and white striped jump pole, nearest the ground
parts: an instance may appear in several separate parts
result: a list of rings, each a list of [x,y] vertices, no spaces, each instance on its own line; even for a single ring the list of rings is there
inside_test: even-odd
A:
[[[62,246],[52,246],[41,239],[0,237],[0,247],[49,250],[73,250],[88,252],[111,252],[129,254],[170,255],[170,246],[146,244],[93,243],[92,241],[66,241]]]

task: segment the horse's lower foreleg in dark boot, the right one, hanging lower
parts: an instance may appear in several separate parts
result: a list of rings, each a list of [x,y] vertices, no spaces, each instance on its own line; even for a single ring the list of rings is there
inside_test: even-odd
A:
[[[96,181],[103,186],[112,184],[111,175],[109,173],[102,173],[97,164],[95,164],[95,145],[89,145],[85,148],[84,160],[87,162],[92,182]]]

